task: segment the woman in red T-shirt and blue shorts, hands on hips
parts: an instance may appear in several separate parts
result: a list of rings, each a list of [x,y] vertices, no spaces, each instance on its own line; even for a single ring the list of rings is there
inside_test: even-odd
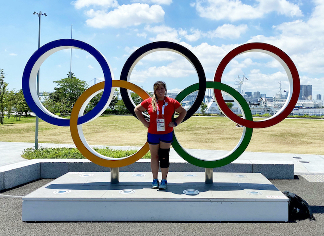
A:
[[[147,142],[151,152],[152,188],[166,189],[173,127],[181,123],[187,112],[177,100],[167,97],[167,85],[163,81],[157,81],[153,89],[153,97],[145,99],[135,107],[134,111],[137,118],[148,128]],[[149,122],[142,114],[142,111],[145,110],[150,115]],[[172,122],[174,111],[178,112],[179,116],[175,122]],[[162,172],[160,185],[157,179],[159,167]]]

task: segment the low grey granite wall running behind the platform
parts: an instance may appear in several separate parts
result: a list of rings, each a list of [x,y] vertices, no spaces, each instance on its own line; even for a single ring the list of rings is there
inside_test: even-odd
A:
[[[204,172],[184,160],[170,160],[169,171]],[[13,188],[40,178],[55,179],[68,172],[110,172],[109,167],[99,166],[87,159],[33,159],[0,167],[0,190]],[[150,159],[124,167],[121,172],[151,171]],[[291,161],[238,161],[214,168],[214,172],[261,173],[268,179],[294,179],[294,164]]]

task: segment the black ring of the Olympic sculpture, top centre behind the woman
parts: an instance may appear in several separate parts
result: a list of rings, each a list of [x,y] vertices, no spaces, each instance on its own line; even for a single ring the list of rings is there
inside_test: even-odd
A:
[[[204,96],[205,96],[205,91],[206,91],[206,76],[205,72],[203,70],[202,64],[199,62],[198,58],[187,48],[181,46],[178,43],[173,43],[173,42],[167,42],[167,41],[160,41],[160,42],[153,42],[153,43],[148,43],[136,51],[133,52],[133,54],[127,59],[125,62],[122,70],[121,70],[121,77],[120,80],[125,80],[129,81],[129,77],[131,75],[131,72],[136,65],[136,63],[141,60],[145,55],[153,52],[153,51],[174,51],[176,53],[179,53],[180,55],[184,56],[191,62],[193,67],[195,68],[197,74],[198,74],[198,79],[199,79],[199,90],[198,90],[198,95],[192,106],[189,108],[187,111],[187,115],[183,119],[183,121],[187,120],[190,118],[195,112],[199,109],[201,106]],[[133,114],[134,117],[136,117],[135,112],[134,112],[134,103],[132,98],[127,92],[127,89],[121,88],[121,98],[124,101],[124,104],[126,108]],[[146,116],[148,117],[148,116]],[[136,117],[137,118],[137,117]],[[183,122],[182,121],[182,122]]]

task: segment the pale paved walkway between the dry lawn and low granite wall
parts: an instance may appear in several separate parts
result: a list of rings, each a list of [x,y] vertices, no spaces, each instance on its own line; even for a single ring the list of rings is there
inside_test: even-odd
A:
[[[73,144],[39,143],[41,147],[75,147]],[[27,142],[0,142],[0,166],[23,162],[21,157],[26,148],[34,148],[34,143]],[[104,146],[96,146],[104,147]],[[110,146],[113,149],[139,149],[140,147]],[[213,159],[225,155],[228,151],[186,149],[190,154],[204,159]],[[171,148],[170,160],[181,159]],[[297,153],[274,153],[274,152],[244,152],[237,160],[249,161],[292,161],[295,174],[324,173],[324,154],[297,154]]]

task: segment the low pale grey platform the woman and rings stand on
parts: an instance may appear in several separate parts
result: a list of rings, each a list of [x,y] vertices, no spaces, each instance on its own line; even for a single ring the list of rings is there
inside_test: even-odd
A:
[[[260,173],[69,172],[23,197],[23,221],[288,221],[288,198]],[[159,176],[161,179],[161,176]]]

